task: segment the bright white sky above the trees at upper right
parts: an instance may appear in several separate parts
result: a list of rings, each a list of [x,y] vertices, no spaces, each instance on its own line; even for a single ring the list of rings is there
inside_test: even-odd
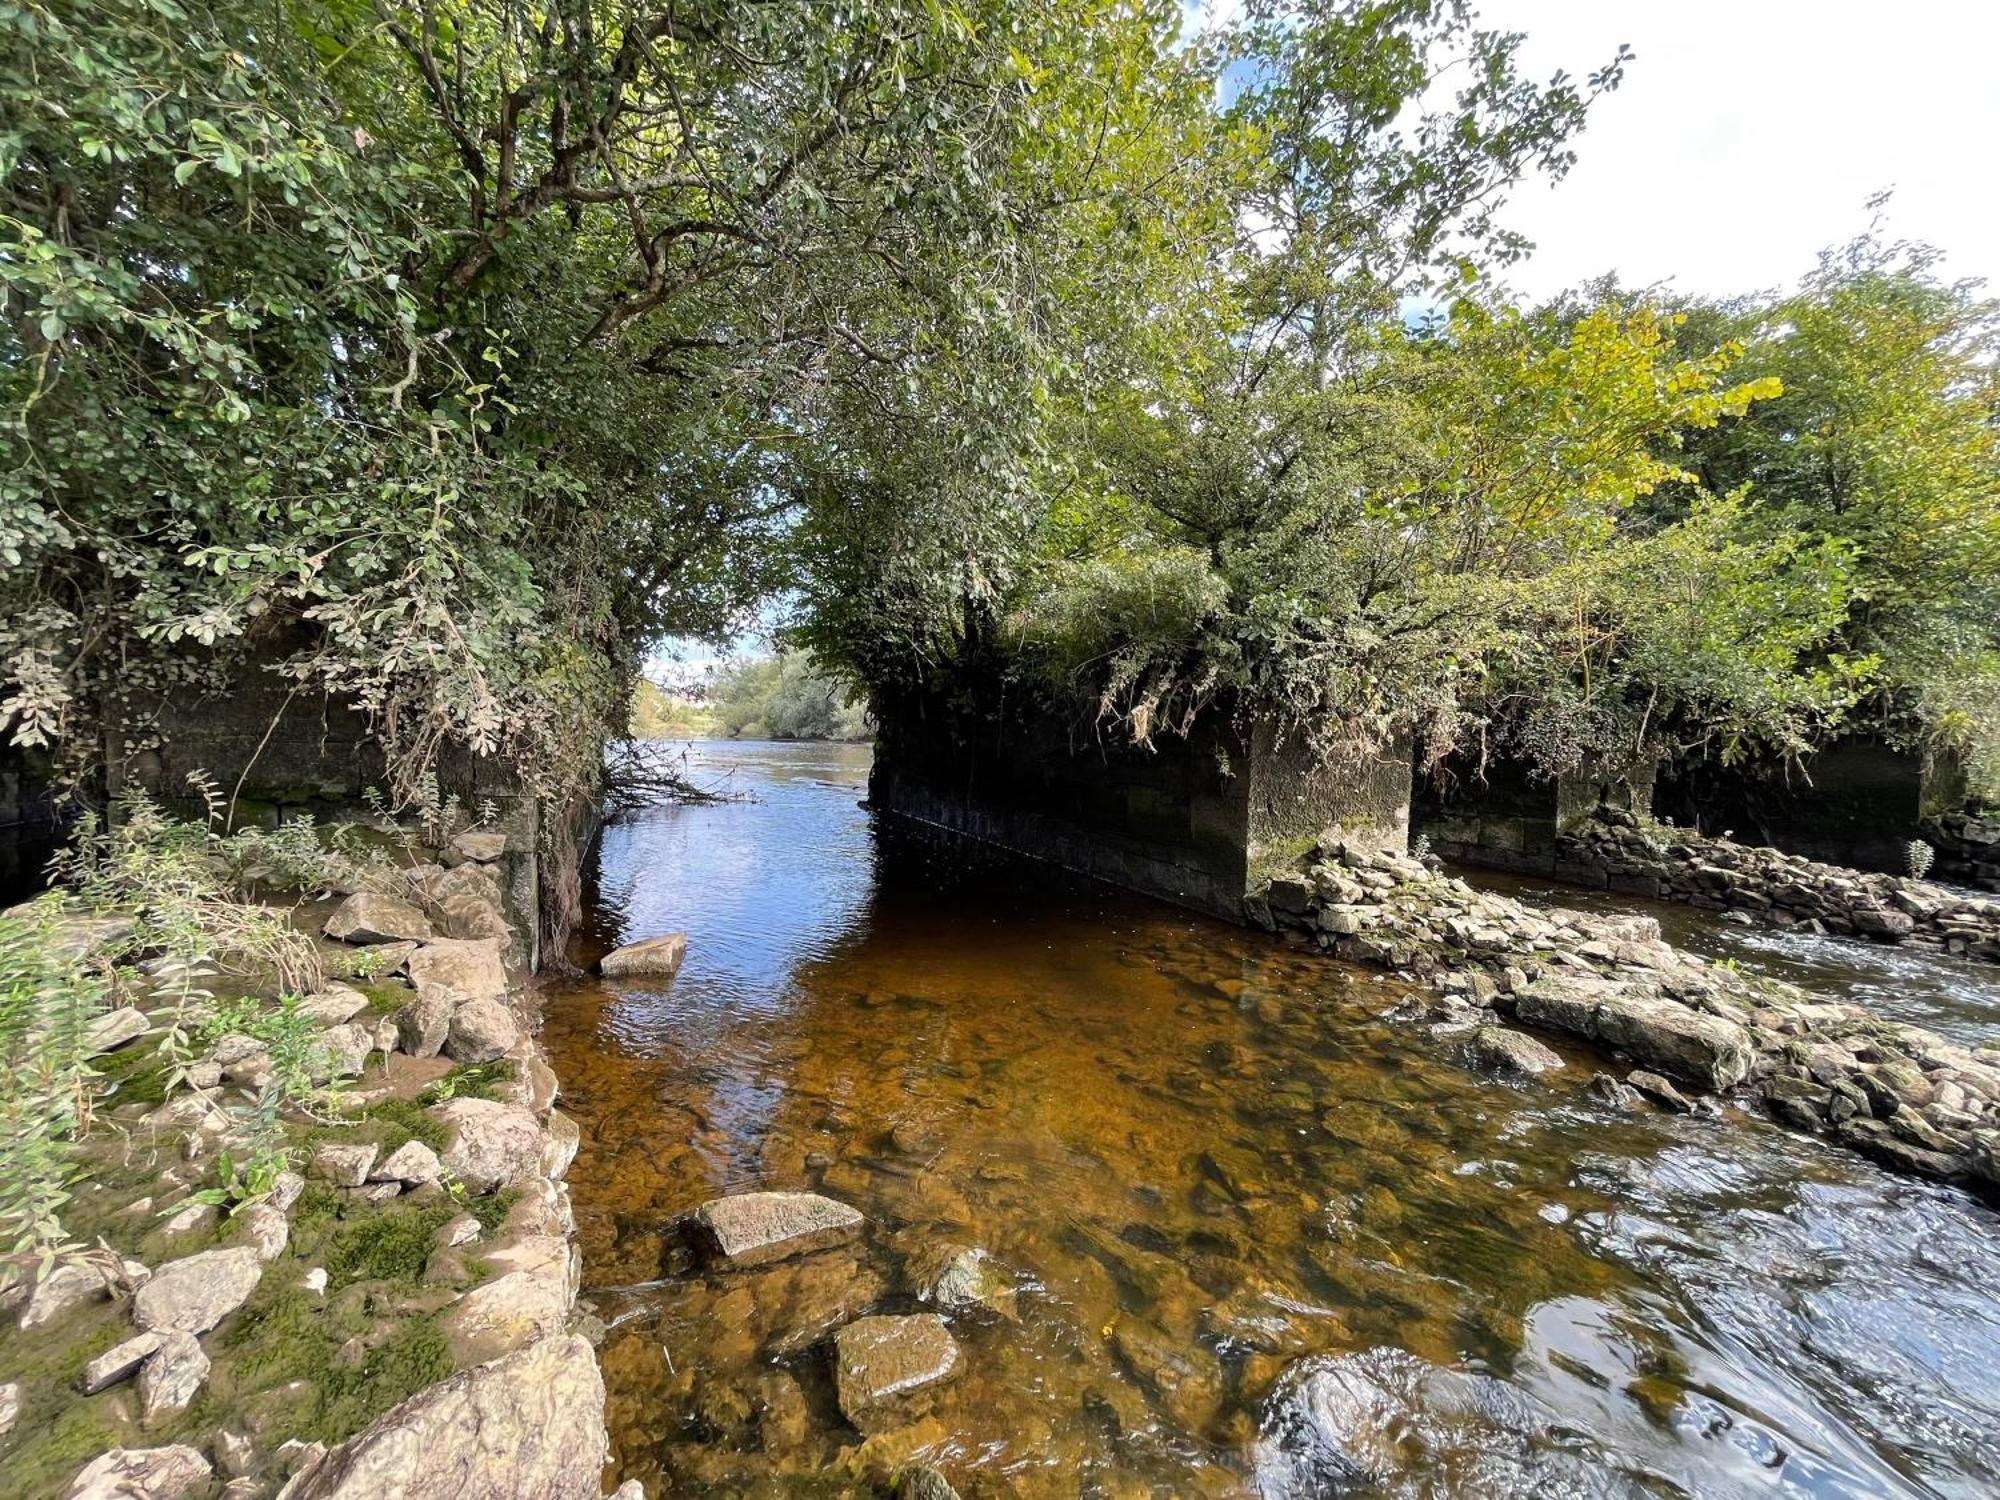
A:
[[[1506,214],[1536,240],[1508,280],[1542,298],[1616,270],[1686,292],[1790,286],[1868,226],[2000,290],[2000,0],[1484,0],[1532,78],[1630,42],[1556,186]]]

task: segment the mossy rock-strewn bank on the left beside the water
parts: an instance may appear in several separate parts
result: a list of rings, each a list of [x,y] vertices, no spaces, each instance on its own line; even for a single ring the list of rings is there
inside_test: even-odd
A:
[[[508,964],[502,848],[468,832],[294,898],[302,998],[192,990],[126,914],[10,914],[118,1004],[90,1024],[72,1248],[0,1272],[0,1492],[600,1494],[578,1130]]]

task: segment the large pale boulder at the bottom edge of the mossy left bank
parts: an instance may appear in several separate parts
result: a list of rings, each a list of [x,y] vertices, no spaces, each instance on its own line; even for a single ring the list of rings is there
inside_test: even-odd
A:
[[[286,1500],[596,1500],[608,1448],[596,1356],[558,1334],[420,1390]]]

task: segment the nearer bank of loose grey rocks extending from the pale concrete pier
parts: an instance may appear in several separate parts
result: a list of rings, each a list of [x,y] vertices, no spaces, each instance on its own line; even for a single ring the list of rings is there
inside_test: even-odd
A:
[[[1512,1018],[1626,1058],[1622,1080],[1600,1082],[1618,1102],[1756,1100],[1888,1166],[2000,1190],[2000,1048],[1710,964],[1662,942],[1652,918],[1534,910],[1338,832],[1264,898],[1278,926],[1328,952],[1426,980],[1440,998],[1404,1018],[1468,1032],[1488,1066],[1560,1066]]]

